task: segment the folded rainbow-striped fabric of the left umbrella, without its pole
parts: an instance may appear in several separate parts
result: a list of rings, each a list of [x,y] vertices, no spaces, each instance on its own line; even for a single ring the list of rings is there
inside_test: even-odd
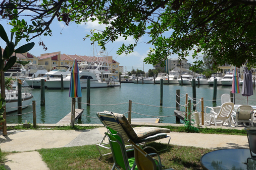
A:
[[[70,77],[70,86],[69,86],[69,97],[71,98],[82,97],[80,79],[79,79],[79,69],[78,69],[78,63],[76,58],[70,73],[71,73],[71,77]]]

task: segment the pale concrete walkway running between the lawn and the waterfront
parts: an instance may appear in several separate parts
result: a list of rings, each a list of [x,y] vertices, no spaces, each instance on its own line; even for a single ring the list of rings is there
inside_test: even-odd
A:
[[[80,124],[79,124],[80,125]],[[177,124],[172,124],[176,125]],[[219,128],[219,127],[218,127]],[[226,127],[223,127],[226,128]],[[238,129],[243,129],[242,127]],[[7,169],[49,169],[36,151],[41,148],[59,148],[70,146],[83,146],[99,143],[103,138],[105,127],[90,130],[11,130],[5,138],[0,133],[2,151],[18,152],[7,156],[5,166]],[[197,133],[169,133],[170,144],[182,146],[195,146],[211,149],[248,148],[247,136],[216,135]],[[167,139],[159,140],[167,143]],[[158,142],[159,142],[158,141]]]

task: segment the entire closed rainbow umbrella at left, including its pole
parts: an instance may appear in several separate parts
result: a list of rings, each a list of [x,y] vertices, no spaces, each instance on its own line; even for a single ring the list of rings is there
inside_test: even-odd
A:
[[[80,79],[79,79],[79,69],[78,63],[75,58],[70,76],[70,86],[69,86],[69,97],[72,98],[72,107],[71,107],[71,126],[75,124],[75,106],[76,98],[82,97]]]

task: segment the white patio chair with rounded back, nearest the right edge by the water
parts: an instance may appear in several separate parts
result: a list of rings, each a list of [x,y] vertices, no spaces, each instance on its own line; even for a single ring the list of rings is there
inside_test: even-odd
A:
[[[241,105],[236,110],[236,127],[239,122],[242,122],[244,126],[247,126],[245,122],[248,122],[253,126],[253,118],[254,118],[253,108],[249,105]]]

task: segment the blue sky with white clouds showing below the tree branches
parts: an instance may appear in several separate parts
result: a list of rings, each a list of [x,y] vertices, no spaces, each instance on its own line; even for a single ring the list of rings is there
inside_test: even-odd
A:
[[[8,21],[0,20],[0,24],[3,25],[5,28],[8,37],[10,38],[10,30],[12,26],[8,25]],[[69,26],[66,26],[64,22],[59,22],[57,19],[53,21],[50,25],[50,29],[52,30],[52,36],[41,36],[41,41],[46,45],[47,50],[45,51],[42,46],[39,46],[40,39],[38,37],[32,39],[30,42],[34,42],[35,46],[33,49],[29,51],[29,53],[40,56],[43,53],[52,53],[60,51],[61,54],[67,55],[86,55],[86,56],[93,56],[93,45],[91,45],[90,39],[86,39],[85,41],[83,38],[85,35],[90,34],[91,30],[104,30],[103,25],[99,25],[97,22],[87,22],[86,24],[77,25],[76,23],[70,23]],[[170,33],[170,32],[169,32]],[[166,34],[169,34],[166,33]],[[171,33],[170,33],[171,34]],[[32,37],[32,36],[31,36]],[[119,37],[118,40],[115,42],[109,42],[106,45],[106,52],[109,56],[113,56],[113,59],[118,61],[120,64],[119,66],[124,67],[124,71],[131,71],[132,69],[140,69],[144,70],[145,72],[148,69],[153,69],[152,64],[145,64],[143,63],[143,59],[147,56],[149,48],[153,48],[151,44],[146,44],[149,40],[148,36],[143,36],[137,46],[134,49],[134,52],[131,54],[116,54],[118,48],[121,44],[125,43],[128,45],[130,43],[134,43],[132,37],[127,38],[124,40],[123,37]],[[18,46],[22,46],[26,44],[25,40],[19,42]],[[96,43],[95,43],[96,44]],[[6,43],[0,38],[0,45],[5,48]],[[100,47],[95,45],[94,46],[94,55],[96,56],[100,51]],[[178,55],[172,55],[169,58],[178,58]],[[186,58],[188,62],[192,63],[194,61],[191,56]]]

